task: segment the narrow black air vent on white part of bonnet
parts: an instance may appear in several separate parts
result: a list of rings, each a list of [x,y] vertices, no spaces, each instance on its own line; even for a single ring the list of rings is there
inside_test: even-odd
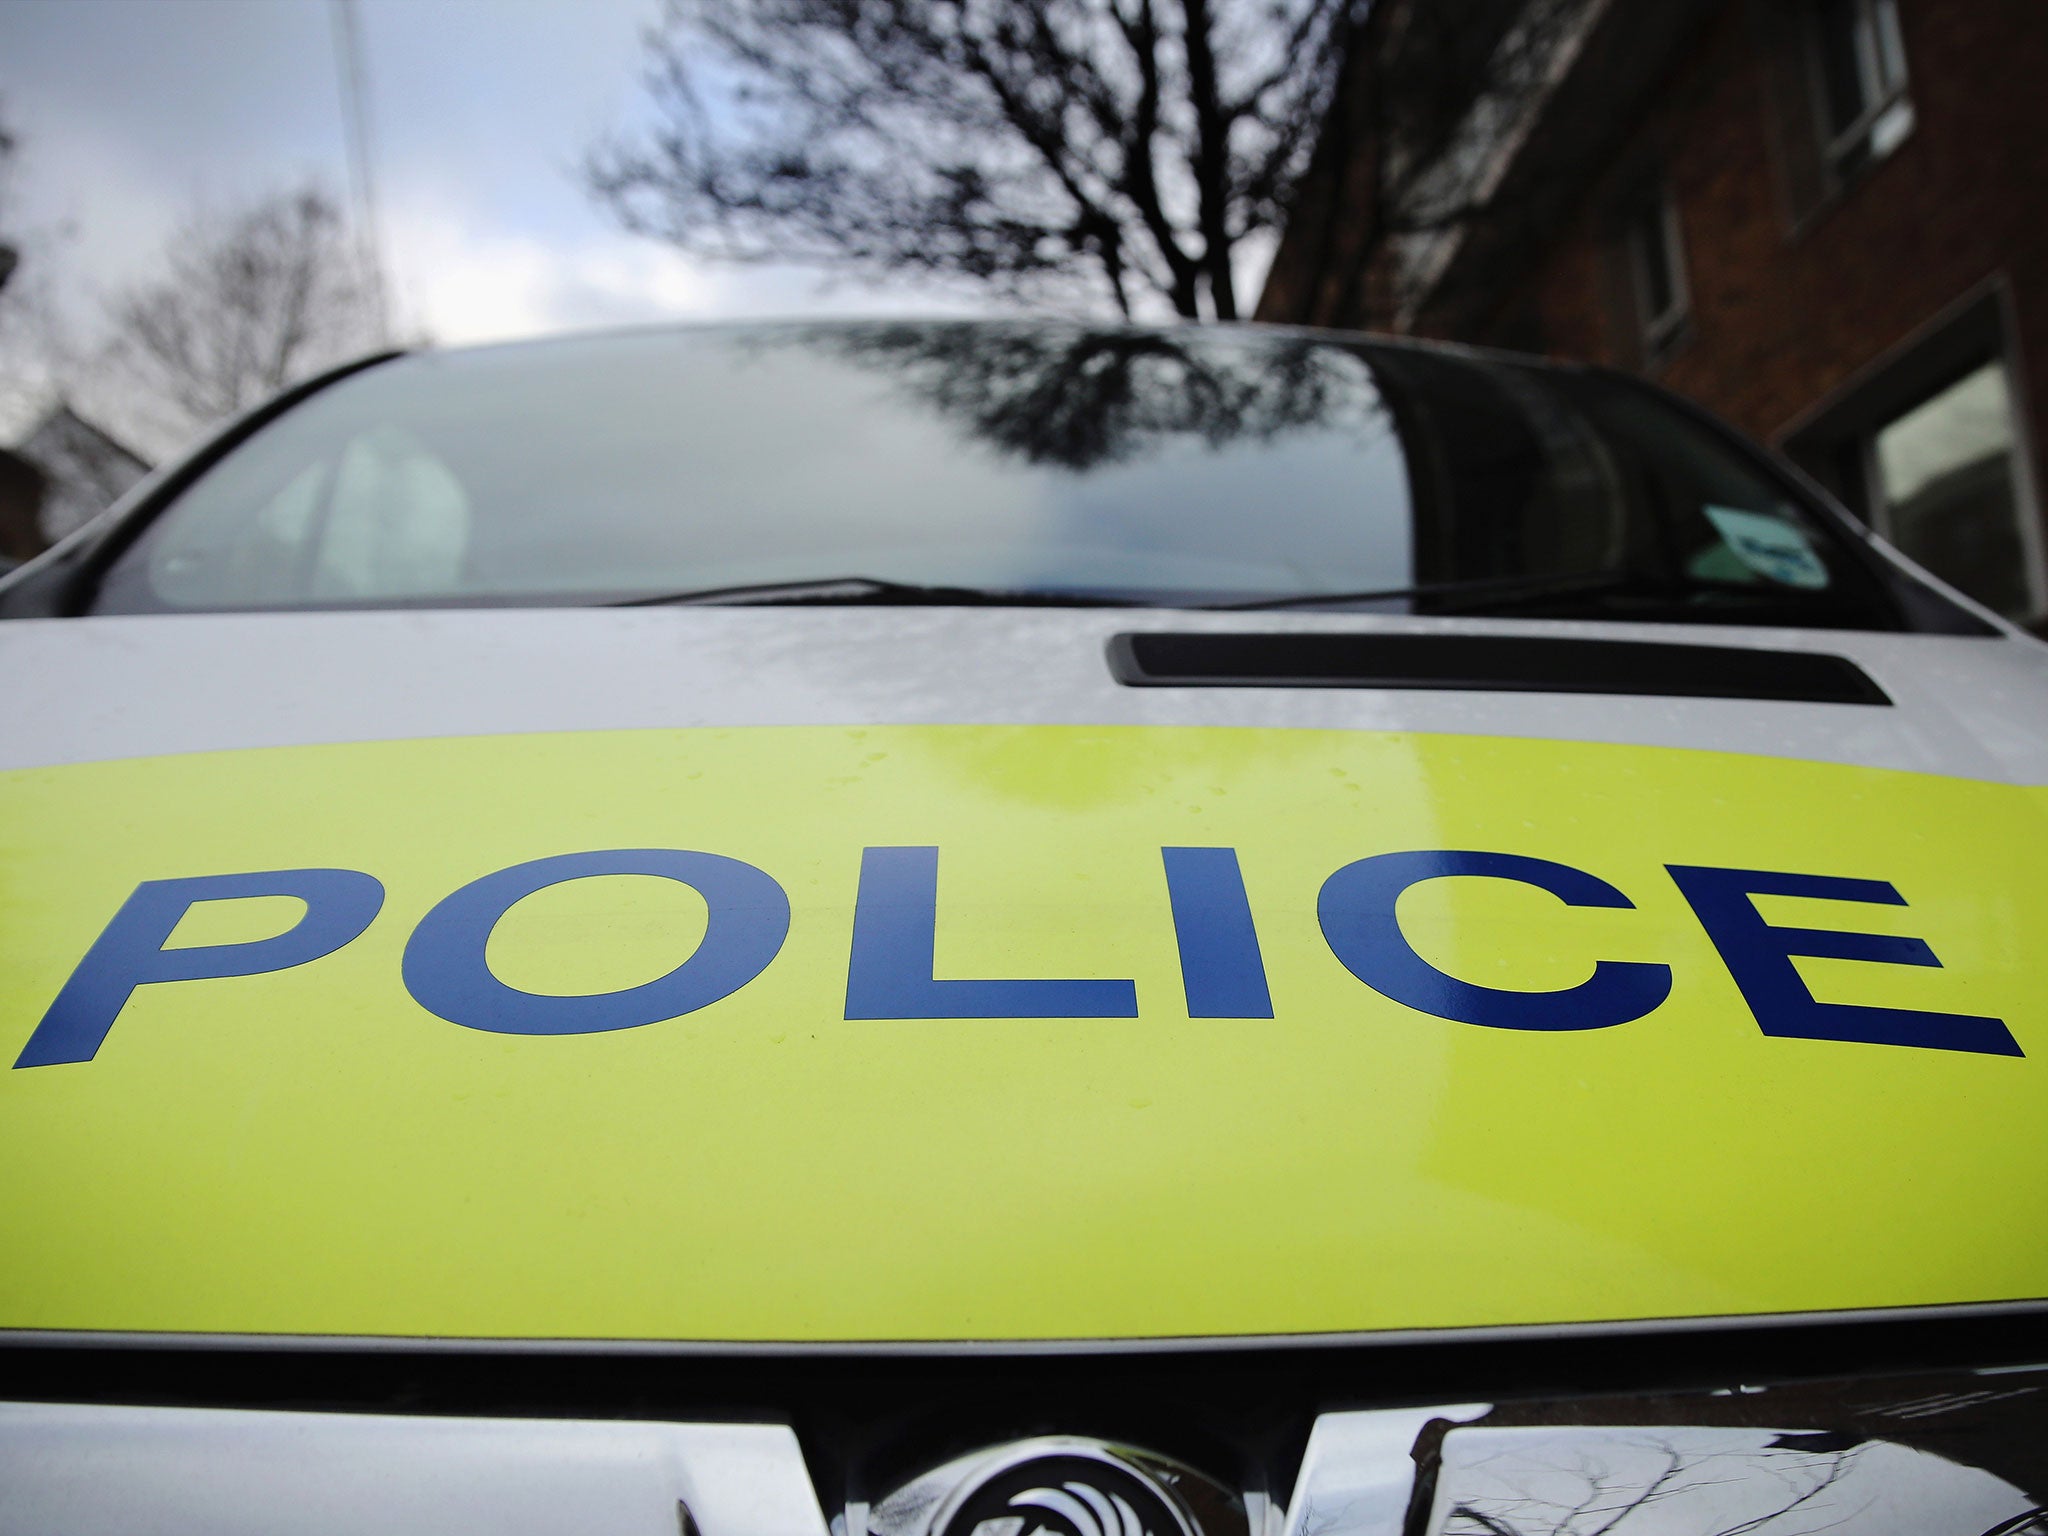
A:
[[[1116,635],[1130,688],[1466,688],[1890,705],[1825,651],[1530,635]]]

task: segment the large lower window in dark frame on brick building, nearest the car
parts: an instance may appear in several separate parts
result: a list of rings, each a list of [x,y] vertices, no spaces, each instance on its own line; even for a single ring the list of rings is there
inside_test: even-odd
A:
[[[2048,614],[2025,418],[1999,295],[1786,440],[1872,528],[2007,618]]]

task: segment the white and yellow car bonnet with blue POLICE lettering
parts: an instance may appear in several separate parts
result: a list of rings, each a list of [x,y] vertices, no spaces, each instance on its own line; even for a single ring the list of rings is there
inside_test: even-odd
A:
[[[1151,631],[1712,641],[1876,698],[1118,682]],[[23,621],[0,664],[6,1329],[2048,1294],[2028,641],[655,608]]]

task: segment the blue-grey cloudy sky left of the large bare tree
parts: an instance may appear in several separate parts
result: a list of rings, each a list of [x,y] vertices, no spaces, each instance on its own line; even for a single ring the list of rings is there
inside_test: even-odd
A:
[[[657,16],[659,0],[358,0],[401,324],[469,342],[963,307],[705,268],[618,231],[575,164],[643,117],[639,37]],[[66,305],[147,274],[195,205],[305,174],[348,188],[332,0],[0,0],[0,115],[20,139],[8,229]]]

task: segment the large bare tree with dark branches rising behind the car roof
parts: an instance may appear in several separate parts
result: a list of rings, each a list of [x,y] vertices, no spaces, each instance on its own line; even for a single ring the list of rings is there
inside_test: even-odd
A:
[[[1233,319],[1366,0],[672,0],[592,156],[686,252]]]

